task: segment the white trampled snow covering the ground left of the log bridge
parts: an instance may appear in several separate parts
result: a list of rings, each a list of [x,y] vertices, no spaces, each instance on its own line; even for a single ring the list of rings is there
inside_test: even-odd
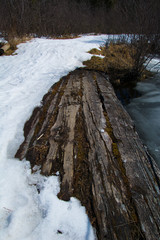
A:
[[[23,126],[43,95],[99,47],[107,36],[71,40],[33,39],[17,55],[0,57],[0,240],[92,240],[94,232],[80,202],[57,198],[58,176],[31,174],[14,158]],[[38,193],[37,189],[40,190]]]

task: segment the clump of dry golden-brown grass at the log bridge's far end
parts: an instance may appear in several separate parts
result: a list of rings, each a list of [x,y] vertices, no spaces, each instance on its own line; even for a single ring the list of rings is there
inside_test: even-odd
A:
[[[89,53],[94,56],[83,62],[86,68],[107,73],[113,83],[136,81],[136,78],[142,79],[148,76],[147,71],[138,76],[135,70],[136,48],[133,45],[111,42],[108,47],[94,48]],[[102,55],[104,58],[95,55]]]

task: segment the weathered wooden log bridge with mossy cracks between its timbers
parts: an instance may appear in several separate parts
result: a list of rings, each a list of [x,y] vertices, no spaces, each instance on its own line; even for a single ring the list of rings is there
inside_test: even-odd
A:
[[[58,197],[81,201],[97,239],[160,239],[160,172],[105,75],[78,69],[63,77],[24,136],[16,157],[45,175],[59,171]]]

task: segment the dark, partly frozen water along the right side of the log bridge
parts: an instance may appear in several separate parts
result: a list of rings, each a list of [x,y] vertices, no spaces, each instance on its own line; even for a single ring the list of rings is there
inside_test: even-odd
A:
[[[155,65],[157,62],[158,59],[154,59],[149,66],[154,66],[152,71],[155,75],[152,78],[137,83],[132,91],[123,91],[129,99],[130,103],[124,104],[135,122],[136,130],[160,168],[160,72],[157,73],[160,66]]]

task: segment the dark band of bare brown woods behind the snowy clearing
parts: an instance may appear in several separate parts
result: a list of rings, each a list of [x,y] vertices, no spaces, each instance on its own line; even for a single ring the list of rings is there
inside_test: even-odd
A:
[[[159,0],[0,0],[0,32],[158,34],[159,12]]]

